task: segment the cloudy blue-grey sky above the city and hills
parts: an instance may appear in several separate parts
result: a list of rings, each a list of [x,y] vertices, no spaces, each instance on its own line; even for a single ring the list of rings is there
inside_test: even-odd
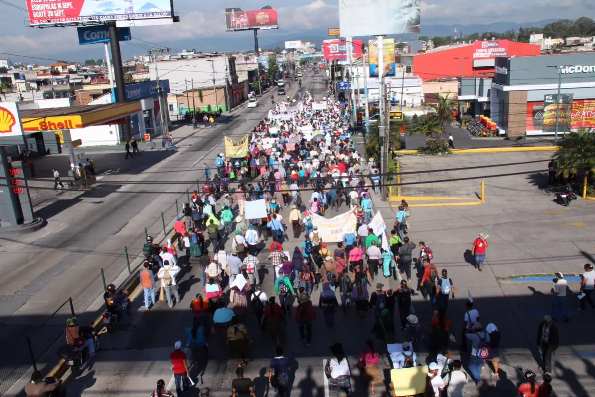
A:
[[[28,62],[39,60],[40,63],[47,64],[48,60],[43,58],[83,61],[86,58],[103,57],[104,49],[101,44],[79,45],[74,27],[27,27],[27,12],[18,9],[26,8],[25,1],[0,0],[0,51],[27,55],[29,58],[6,54],[0,54],[0,58]],[[289,39],[287,35],[300,39],[300,35],[307,35],[314,30],[320,32],[321,29],[339,27],[338,2],[339,0],[174,0],[174,11],[180,14],[181,22],[171,26],[131,28],[133,40],[122,44],[122,53],[124,59],[127,59],[134,54],[146,54],[146,49],[156,46],[194,48],[197,51],[213,51],[214,48],[230,51],[242,48],[241,45],[238,46],[240,40],[242,45],[248,42],[252,32],[225,31],[224,9],[232,7],[258,10],[270,5],[277,8],[280,29],[261,31],[261,39],[263,36],[267,40],[277,36],[279,39]],[[464,30],[464,25],[471,23],[576,19],[583,15],[595,15],[595,0],[500,0],[480,3],[475,0],[422,0],[421,12],[423,33],[424,24],[456,24]]]

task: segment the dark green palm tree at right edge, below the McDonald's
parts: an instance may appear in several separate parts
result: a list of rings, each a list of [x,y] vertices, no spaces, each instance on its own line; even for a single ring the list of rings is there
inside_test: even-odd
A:
[[[595,174],[595,129],[580,127],[559,140],[560,150],[552,155],[556,168],[563,168],[560,173],[568,177],[580,171]]]

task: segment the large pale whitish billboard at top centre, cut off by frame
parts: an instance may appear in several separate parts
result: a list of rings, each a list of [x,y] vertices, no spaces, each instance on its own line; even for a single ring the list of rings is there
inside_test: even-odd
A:
[[[343,37],[421,33],[421,0],[341,0]]]

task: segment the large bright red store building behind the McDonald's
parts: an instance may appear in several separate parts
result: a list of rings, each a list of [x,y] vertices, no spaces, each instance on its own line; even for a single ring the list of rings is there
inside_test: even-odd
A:
[[[540,55],[539,45],[511,40],[483,40],[441,46],[417,54],[402,54],[405,76],[422,80],[449,77],[494,77],[494,57]]]

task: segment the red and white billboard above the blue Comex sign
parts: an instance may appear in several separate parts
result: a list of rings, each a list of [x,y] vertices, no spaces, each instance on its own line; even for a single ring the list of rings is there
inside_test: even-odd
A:
[[[172,18],[170,0],[26,0],[31,26]]]

